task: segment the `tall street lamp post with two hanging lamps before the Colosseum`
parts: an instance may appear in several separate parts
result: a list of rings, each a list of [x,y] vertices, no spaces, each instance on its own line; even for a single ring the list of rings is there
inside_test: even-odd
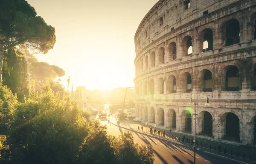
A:
[[[191,97],[190,97],[190,102],[189,102],[189,105],[192,103],[192,93],[194,94],[194,101],[193,101],[193,106],[194,106],[194,112],[193,112],[193,115],[194,115],[194,120],[195,120],[195,126],[194,126],[194,147],[192,148],[194,150],[194,164],[195,164],[195,151],[196,151],[196,148],[195,148],[195,131],[196,131],[196,116],[198,115],[197,114],[197,111],[196,111],[196,106],[198,106],[198,95],[200,93],[205,93],[207,95],[207,98],[206,98],[206,103],[204,104],[205,106],[209,106],[209,98],[208,98],[208,94],[206,92],[199,92],[197,94],[197,98],[196,98],[196,102],[195,102],[195,93],[194,92],[191,92]]]

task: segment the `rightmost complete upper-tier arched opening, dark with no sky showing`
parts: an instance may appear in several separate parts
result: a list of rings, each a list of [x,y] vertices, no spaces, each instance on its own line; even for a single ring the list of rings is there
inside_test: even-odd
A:
[[[236,19],[228,20],[224,24],[225,29],[225,46],[237,44],[240,42],[240,26]]]

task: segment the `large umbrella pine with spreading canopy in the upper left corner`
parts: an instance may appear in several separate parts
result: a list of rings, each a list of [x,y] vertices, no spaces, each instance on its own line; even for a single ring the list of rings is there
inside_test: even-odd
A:
[[[0,0],[0,82],[3,51],[17,46],[46,54],[55,42],[55,28],[47,25],[26,0]]]

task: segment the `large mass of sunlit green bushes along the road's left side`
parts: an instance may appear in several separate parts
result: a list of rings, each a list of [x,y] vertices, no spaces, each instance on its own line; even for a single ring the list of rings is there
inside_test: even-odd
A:
[[[15,102],[6,94],[0,99]],[[8,92],[8,94],[7,94]],[[9,99],[6,97],[8,96]],[[15,102],[16,103],[16,102]],[[5,105],[8,164],[153,164],[153,149],[134,143],[131,133],[108,136],[106,126],[91,120],[66,94],[59,99],[49,85],[30,92],[25,102]],[[8,117],[7,117],[8,116]],[[11,120],[11,121],[9,121]],[[6,130],[6,128],[8,130]],[[8,147],[3,145],[1,147]],[[1,148],[0,147],[0,148]],[[3,158],[1,158],[3,159]],[[0,160],[0,163],[1,160]]]

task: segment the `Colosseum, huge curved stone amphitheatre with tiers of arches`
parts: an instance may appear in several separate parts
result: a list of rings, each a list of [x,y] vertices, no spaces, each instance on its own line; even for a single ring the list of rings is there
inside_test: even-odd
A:
[[[134,41],[137,116],[176,132],[256,143],[255,0],[159,0]]]

